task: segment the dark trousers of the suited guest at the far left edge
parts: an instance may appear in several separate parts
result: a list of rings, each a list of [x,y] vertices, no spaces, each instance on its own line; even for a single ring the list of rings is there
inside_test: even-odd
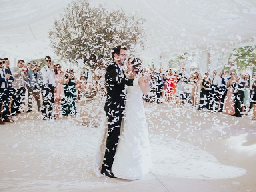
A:
[[[10,104],[9,90],[0,88],[0,109],[3,105],[2,118],[4,120],[10,117],[9,104]],[[1,118],[1,115],[0,115],[0,118]]]

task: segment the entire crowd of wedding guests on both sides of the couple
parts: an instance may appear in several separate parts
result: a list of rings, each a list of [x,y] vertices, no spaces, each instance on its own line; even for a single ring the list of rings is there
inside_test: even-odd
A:
[[[42,119],[53,120],[61,116],[73,116],[77,113],[76,102],[83,101],[94,92],[94,87],[104,95],[104,70],[94,71],[94,86],[88,83],[88,72],[82,71],[80,78],[74,76],[74,70],[62,71],[60,64],[54,64],[50,56],[45,57],[45,66],[37,63],[25,64],[18,60],[10,68],[8,58],[0,58],[0,124],[18,120],[25,112],[25,97],[28,96],[27,113],[33,110],[42,112]],[[224,112],[241,117],[253,110],[256,118],[256,73],[249,74],[224,72],[221,75],[214,70],[200,76],[192,75],[182,68],[180,72],[169,69],[157,72],[155,68],[144,69],[151,76],[150,92],[144,96],[146,102],[172,102],[177,107],[190,104],[198,110]],[[97,83],[100,82],[100,83]],[[33,108],[36,102],[37,109]]]

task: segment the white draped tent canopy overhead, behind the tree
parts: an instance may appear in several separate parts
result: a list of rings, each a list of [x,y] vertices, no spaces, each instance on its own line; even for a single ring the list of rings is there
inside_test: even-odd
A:
[[[0,57],[56,57],[49,45],[48,31],[54,19],[71,0],[2,0]],[[204,68],[208,52],[211,66],[225,63],[234,47],[256,43],[254,0],[94,0],[92,6],[139,12],[147,35],[141,56],[160,61],[170,54],[198,53]],[[200,62],[201,61],[201,62]],[[202,63],[202,64],[200,64]]]

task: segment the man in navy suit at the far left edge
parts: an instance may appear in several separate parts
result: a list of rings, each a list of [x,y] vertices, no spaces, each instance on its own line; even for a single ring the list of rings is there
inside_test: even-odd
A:
[[[8,79],[11,74],[7,73],[4,69],[4,60],[0,59],[0,108],[3,104],[2,117],[0,115],[0,124],[5,124],[5,122],[11,123],[9,103],[10,103],[10,92],[8,89]]]

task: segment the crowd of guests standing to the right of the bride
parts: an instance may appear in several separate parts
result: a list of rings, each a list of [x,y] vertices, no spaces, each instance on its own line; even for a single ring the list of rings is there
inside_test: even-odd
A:
[[[198,72],[186,73],[185,68],[181,72],[161,68],[159,72],[155,68],[144,72],[152,78],[150,94],[144,96],[147,102],[173,102],[178,107],[189,103],[198,110],[236,117],[252,109],[252,119],[256,118],[256,73],[251,78],[249,74],[227,71],[218,75],[216,70],[201,77]]]

